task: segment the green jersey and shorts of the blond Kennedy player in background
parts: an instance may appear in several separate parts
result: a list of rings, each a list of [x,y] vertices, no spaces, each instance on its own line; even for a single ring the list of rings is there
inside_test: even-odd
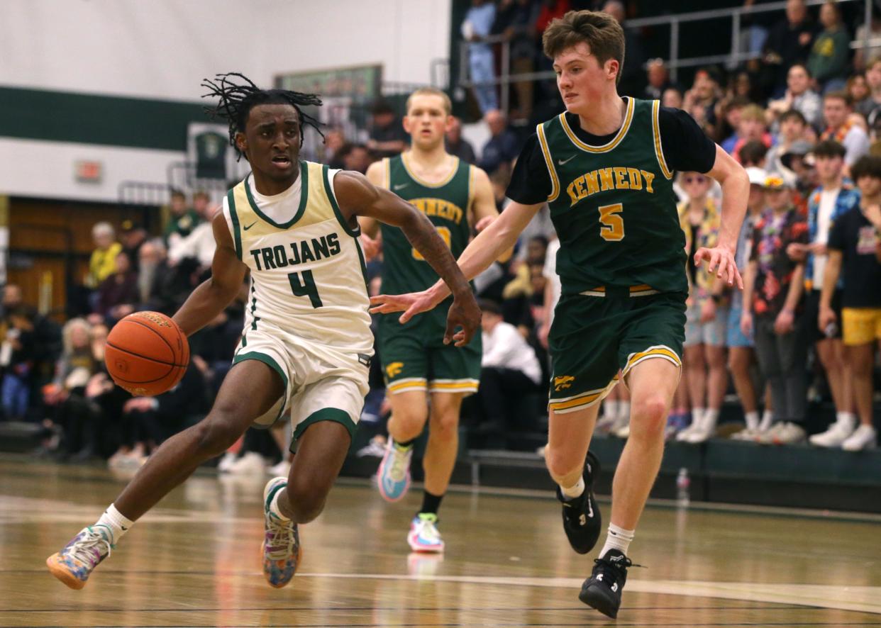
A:
[[[473,166],[456,159],[446,181],[420,180],[408,167],[407,153],[383,159],[385,181],[403,200],[426,214],[455,258],[468,245],[468,213],[473,199]],[[431,265],[396,227],[381,225],[382,292],[426,290],[438,280]],[[480,377],[481,339],[475,334],[464,347],[443,344],[452,297],[433,310],[400,324],[400,314],[380,317],[377,340],[389,393],[407,390],[473,393]]]

